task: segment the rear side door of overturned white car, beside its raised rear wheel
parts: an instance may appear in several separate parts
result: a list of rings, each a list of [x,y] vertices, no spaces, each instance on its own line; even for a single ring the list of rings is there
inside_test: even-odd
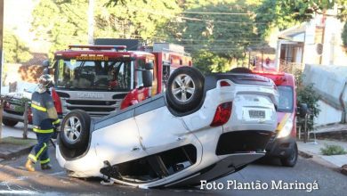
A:
[[[141,145],[148,154],[155,154],[189,143],[196,143],[182,118],[175,117],[165,106],[164,97],[135,109]],[[161,106],[161,107],[160,107]]]

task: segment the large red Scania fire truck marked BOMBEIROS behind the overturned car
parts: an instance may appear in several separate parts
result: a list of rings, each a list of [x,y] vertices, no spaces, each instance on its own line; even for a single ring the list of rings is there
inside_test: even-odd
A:
[[[85,110],[104,116],[163,92],[173,69],[191,66],[184,48],[173,47],[179,46],[158,43],[149,53],[125,45],[69,45],[56,52],[52,70],[63,115]]]

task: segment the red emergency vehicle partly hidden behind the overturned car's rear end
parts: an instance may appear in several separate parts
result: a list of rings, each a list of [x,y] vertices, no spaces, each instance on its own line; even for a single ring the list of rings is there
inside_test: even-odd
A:
[[[279,158],[283,166],[294,167],[298,157],[296,144],[296,93],[295,77],[277,71],[254,71],[254,74],[272,79],[278,87],[278,127],[266,147],[266,156]],[[299,114],[306,115],[307,107],[302,105]]]

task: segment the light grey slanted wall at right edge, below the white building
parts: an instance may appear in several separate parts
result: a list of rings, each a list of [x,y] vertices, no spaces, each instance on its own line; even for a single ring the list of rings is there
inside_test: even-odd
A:
[[[321,96],[317,126],[343,122],[343,111],[347,110],[347,67],[306,64],[303,74],[303,83],[312,83]]]

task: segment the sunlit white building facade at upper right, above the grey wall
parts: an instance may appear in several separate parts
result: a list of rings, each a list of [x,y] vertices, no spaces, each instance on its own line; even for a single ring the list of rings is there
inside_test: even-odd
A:
[[[304,64],[347,66],[347,53],[341,34],[344,23],[335,18],[335,10],[318,14],[279,33],[276,67],[293,72]]]

